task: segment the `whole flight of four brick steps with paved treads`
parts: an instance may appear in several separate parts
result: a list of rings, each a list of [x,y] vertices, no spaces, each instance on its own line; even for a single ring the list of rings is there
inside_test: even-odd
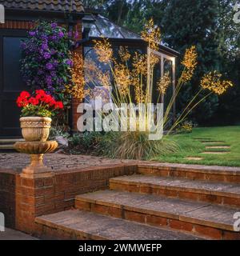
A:
[[[36,218],[42,238],[240,239],[240,171],[146,163],[110,178],[110,190],[77,195],[74,206]]]

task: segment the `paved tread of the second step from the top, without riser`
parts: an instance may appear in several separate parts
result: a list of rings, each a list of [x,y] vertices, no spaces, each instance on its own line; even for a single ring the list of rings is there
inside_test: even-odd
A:
[[[192,191],[205,194],[229,195],[234,198],[240,198],[240,185],[233,183],[208,182],[200,180],[190,180],[185,178],[160,177],[151,175],[134,174],[130,176],[122,176],[111,178],[110,182],[119,182],[122,184],[132,184],[138,186],[159,187],[164,189],[178,191]]]

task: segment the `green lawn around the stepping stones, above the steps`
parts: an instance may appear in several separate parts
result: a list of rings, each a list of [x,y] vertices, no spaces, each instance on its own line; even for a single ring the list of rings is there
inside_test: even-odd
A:
[[[191,134],[170,135],[170,140],[177,142],[176,153],[154,158],[160,162],[178,162],[202,165],[240,166],[240,126],[194,128]],[[200,138],[200,139],[196,139]],[[206,145],[204,139],[215,144]],[[206,146],[230,146],[230,149],[207,149]],[[204,151],[226,151],[226,154],[202,154]],[[202,160],[188,160],[188,157]]]

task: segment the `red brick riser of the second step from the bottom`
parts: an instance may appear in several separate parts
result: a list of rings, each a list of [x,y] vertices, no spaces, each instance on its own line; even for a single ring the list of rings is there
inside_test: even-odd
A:
[[[75,200],[75,208],[78,210],[91,211],[114,218],[122,218],[133,222],[144,223],[150,226],[166,227],[172,230],[186,231],[194,235],[205,236],[218,240],[240,240],[240,233],[230,230],[222,230],[214,226],[205,226],[190,221],[190,218],[173,218],[172,216],[157,216],[150,213],[139,212],[138,209],[130,209],[129,206],[104,205],[99,202]],[[167,214],[166,214],[167,215]]]

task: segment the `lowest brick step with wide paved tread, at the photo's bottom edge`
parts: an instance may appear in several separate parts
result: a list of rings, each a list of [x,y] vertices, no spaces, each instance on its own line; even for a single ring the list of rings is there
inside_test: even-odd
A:
[[[83,210],[66,210],[35,218],[39,235],[48,239],[196,240],[201,237],[156,228]]]

